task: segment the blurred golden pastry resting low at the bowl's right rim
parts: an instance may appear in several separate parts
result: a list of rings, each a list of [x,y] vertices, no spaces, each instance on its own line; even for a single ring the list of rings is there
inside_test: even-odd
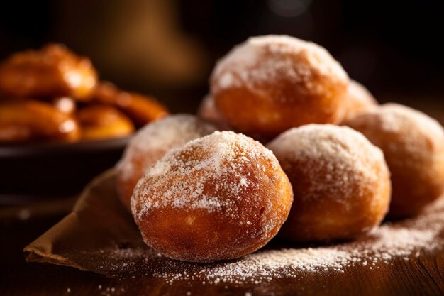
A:
[[[119,138],[135,131],[133,122],[111,106],[90,105],[79,110],[77,117],[83,140]]]

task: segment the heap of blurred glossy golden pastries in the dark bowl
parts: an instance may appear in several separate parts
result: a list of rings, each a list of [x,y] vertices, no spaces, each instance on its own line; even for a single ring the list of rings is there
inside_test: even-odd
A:
[[[63,45],[0,65],[0,143],[117,138],[165,115],[155,99],[100,82],[91,61]]]

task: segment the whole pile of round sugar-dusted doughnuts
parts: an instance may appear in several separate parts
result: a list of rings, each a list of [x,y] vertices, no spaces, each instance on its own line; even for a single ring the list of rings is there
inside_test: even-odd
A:
[[[149,124],[117,165],[123,203],[165,256],[238,258],[279,229],[289,241],[355,239],[444,191],[443,128],[378,106],[314,43],[250,38],[218,62],[210,90],[201,120]]]

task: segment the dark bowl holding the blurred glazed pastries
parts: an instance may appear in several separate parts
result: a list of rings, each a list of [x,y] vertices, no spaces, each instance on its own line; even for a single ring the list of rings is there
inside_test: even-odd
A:
[[[78,194],[116,164],[128,140],[0,146],[0,204]]]

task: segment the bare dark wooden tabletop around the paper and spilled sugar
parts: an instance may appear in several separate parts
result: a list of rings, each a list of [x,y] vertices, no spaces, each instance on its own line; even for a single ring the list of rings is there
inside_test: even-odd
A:
[[[60,221],[70,211],[74,199],[52,201],[26,207],[0,208],[0,295],[208,295],[199,289],[172,290],[165,285],[147,284],[138,278],[113,279],[57,265],[26,263],[22,249]],[[401,262],[391,277],[403,278],[399,284],[366,284],[362,278],[359,289],[350,287],[347,276],[336,283],[328,278],[323,283],[312,283],[304,291],[295,291],[289,283],[280,283],[278,293],[273,287],[255,290],[254,285],[238,287],[235,290],[217,289],[211,295],[444,295],[444,254],[425,258],[410,266]],[[433,268],[429,268],[432,266]],[[433,274],[438,266],[438,274]],[[415,273],[413,269],[421,270]],[[411,270],[411,271],[410,271]],[[357,275],[350,275],[350,279]],[[441,280],[437,280],[441,279]],[[351,280],[350,280],[351,281]],[[382,279],[381,283],[390,281]],[[319,285],[323,285],[320,289]],[[313,290],[320,291],[313,293]],[[192,291],[192,292],[191,292]],[[325,293],[323,293],[324,291]],[[360,291],[359,294],[356,294]],[[256,293],[257,292],[257,293]]]

